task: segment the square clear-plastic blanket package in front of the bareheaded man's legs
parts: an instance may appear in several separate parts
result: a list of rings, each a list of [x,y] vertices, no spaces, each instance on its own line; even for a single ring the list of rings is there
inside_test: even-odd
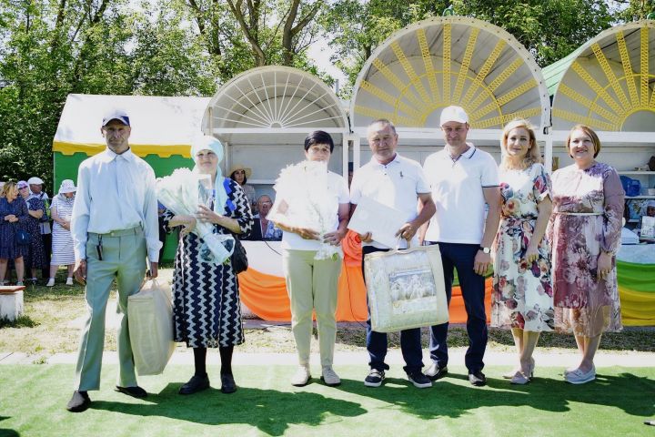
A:
[[[438,246],[369,253],[364,274],[372,330],[393,332],[448,321]]]

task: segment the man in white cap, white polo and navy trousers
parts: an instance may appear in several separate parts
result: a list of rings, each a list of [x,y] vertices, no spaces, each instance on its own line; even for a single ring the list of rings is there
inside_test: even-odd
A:
[[[446,107],[440,125],[446,145],[423,165],[437,207],[424,240],[438,244],[441,251],[448,303],[453,269],[457,269],[468,316],[469,350],[465,361],[469,382],[482,386],[487,383],[482,360],[488,338],[483,275],[491,263],[491,243],[499,227],[498,165],[489,153],[467,143],[469,116],[463,108]],[[486,218],[485,205],[489,205]],[[447,336],[448,323],[430,328],[432,365],[426,375],[432,381],[448,373]]]

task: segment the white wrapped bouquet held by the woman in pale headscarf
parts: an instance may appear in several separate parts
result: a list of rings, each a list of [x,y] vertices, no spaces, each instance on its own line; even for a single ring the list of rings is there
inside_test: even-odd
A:
[[[207,203],[205,193],[201,193],[199,189],[203,178],[207,178],[207,176],[191,171],[188,168],[177,168],[172,175],[157,178],[157,199],[176,215],[196,217],[198,204]],[[215,234],[212,223],[197,221],[196,228],[192,232],[204,241],[201,256],[207,262],[219,265],[232,255],[234,242],[227,245],[230,248],[229,250],[223,245],[224,241],[232,239],[232,237]]]

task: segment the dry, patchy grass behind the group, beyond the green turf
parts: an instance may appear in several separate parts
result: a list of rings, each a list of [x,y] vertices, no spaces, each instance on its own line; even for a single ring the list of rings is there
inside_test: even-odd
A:
[[[160,276],[170,278],[172,268],[165,266]],[[34,355],[35,362],[58,352],[76,352],[79,330],[83,324],[80,318],[86,314],[84,288],[78,284],[63,285],[65,269],[59,269],[55,287],[43,285],[28,286],[25,290],[25,315],[14,322],[0,320],[0,352],[16,351]],[[116,300],[116,291],[110,301]],[[364,323],[340,325],[337,333],[337,351],[361,351],[366,346]],[[312,342],[317,351],[317,341]],[[468,346],[469,338],[463,327],[452,327],[448,334],[449,347]],[[428,344],[428,330],[423,330],[423,344]],[[511,333],[508,330],[489,330],[489,348],[497,351],[514,351]],[[389,335],[389,346],[399,347],[398,334]],[[181,349],[186,349],[184,345]],[[539,340],[539,349],[575,351],[576,345],[570,335],[544,333]],[[619,333],[603,335],[602,351],[655,351],[653,330],[630,329]],[[105,350],[116,351],[116,330],[106,327]],[[295,343],[289,326],[247,330],[246,343],[239,346],[243,352],[294,352]]]

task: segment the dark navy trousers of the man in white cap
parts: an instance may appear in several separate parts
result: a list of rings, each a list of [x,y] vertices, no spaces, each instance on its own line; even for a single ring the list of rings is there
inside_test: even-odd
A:
[[[446,282],[448,305],[452,293],[454,279],[453,271],[457,269],[459,286],[467,311],[467,332],[469,333],[469,349],[465,363],[469,372],[481,371],[484,368],[484,352],[487,349],[489,332],[487,330],[487,314],[484,307],[484,277],[473,271],[473,262],[479,250],[477,244],[434,243],[441,252],[441,262]],[[448,365],[448,322],[430,327],[430,358],[439,367]]]

